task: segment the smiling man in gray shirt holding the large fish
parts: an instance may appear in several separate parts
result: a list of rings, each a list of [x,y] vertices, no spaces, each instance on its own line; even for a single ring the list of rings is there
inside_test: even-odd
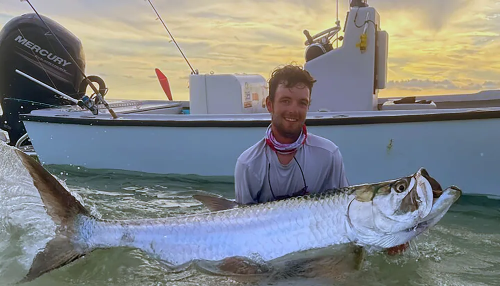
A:
[[[305,126],[314,82],[295,65],[272,72],[266,98],[271,124],[237,159],[236,202],[268,202],[348,185],[338,147]]]

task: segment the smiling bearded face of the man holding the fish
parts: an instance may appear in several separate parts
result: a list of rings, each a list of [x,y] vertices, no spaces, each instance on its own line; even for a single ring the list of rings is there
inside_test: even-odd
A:
[[[266,106],[278,136],[296,140],[309,109],[309,88],[301,83],[292,88],[279,84],[274,101],[271,102],[267,97]]]

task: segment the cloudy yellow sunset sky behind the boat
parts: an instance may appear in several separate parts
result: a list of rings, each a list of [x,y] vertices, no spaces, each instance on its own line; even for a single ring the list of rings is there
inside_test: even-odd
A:
[[[200,73],[258,73],[303,64],[303,29],[335,24],[334,0],[153,0]],[[83,44],[86,74],[104,78],[110,98],[164,99],[154,73],[168,77],[174,99],[188,99],[189,67],[145,0],[31,0],[40,14]],[[339,0],[343,28],[347,0]],[[387,88],[380,97],[472,93],[500,88],[500,0],[368,0],[389,33]],[[32,12],[0,1],[0,26]]]

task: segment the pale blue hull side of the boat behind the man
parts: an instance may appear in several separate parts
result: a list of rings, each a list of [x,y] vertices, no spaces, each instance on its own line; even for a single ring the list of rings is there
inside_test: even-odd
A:
[[[465,194],[500,196],[500,109],[446,111],[447,117],[434,112],[431,118],[417,111],[375,112],[309,115],[308,131],[339,146],[350,184],[397,178],[425,167],[443,185],[455,184]],[[232,176],[237,157],[262,139],[269,124],[265,114],[239,121],[237,115],[217,120],[179,116],[182,120],[156,116],[85,121],[27,115],[24,125],[45,165]]]

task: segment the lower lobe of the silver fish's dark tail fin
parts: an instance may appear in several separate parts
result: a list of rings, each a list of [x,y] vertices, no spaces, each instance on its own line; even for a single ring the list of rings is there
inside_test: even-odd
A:
[[[85,253],[76,251],[69,238],[58,235],[49,241],[43,251],[36,254],[26,276],[18,283],[32,281],[54,269],[63,267]]]

